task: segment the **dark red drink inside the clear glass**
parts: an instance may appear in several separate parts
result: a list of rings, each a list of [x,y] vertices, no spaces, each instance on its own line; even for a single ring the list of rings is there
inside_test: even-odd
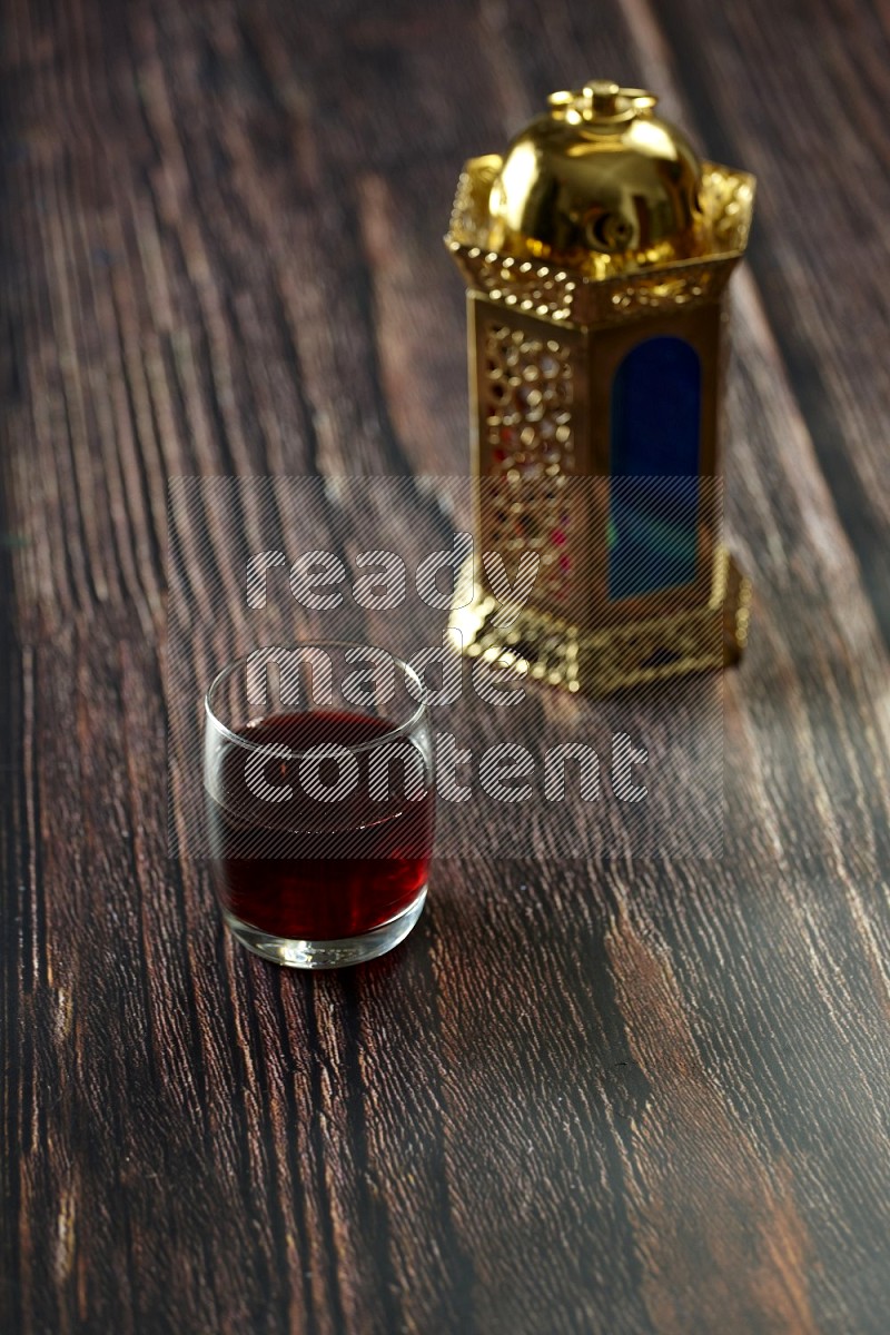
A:
[[[223,752],[224,805],[211,798],[208,814],[216,892],[228,913],[271,936],[335,940],[388,922],[416,898],[432,853],[432,789],[407,796],[407,766],[395,760],[388,793],[375,797],[374,749],[354,749],[391,730],[384,718],[324,710],[240,729],[254,745],[298,754],[319,744],[343,746],[358,772],[351,792],[326,802],[306,792],[296,758],[271,754],[270,778],[291,796],[263,802],[246,781],[242,748]]]

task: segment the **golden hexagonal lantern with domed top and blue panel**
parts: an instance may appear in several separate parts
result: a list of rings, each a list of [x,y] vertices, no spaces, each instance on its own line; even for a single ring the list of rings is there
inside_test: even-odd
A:
[[[721,543],[726,286],[754,178],[702,162],[640,89],[550,97],[471,159],[446,244],[468,284],[475,566],[463,649],[568,690],[719,668],[750,585]],[[480,554],[531,591],[504,615]]]

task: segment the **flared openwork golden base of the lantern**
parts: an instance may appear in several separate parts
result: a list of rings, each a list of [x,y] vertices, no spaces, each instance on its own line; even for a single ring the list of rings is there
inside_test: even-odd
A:
[[[580,630],[550,613],[523,607],[503,629],[495,625],[499,603],[479,593],[467,606],[452,610],[450,626],[460,634],[462,651],[470,658],[598,697],[738,662],[747,639],[750,602],[750,581],[727,549],[719,547],[711,598],[702,607],[599,630]]]

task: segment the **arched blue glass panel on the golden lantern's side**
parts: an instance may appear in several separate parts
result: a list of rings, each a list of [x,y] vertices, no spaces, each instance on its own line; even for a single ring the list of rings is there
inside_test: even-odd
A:
[[[702,366],[681,338],[650,338],[615,372],[610,415],[608,597],[695,578]]]

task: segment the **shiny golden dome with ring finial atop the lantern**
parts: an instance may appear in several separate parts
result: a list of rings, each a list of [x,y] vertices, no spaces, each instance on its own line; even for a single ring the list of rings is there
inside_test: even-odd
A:
[[[552,93],[491,183],[491,248],[594,278],[705,252],[702,163],[656,100],[602,80]]]

